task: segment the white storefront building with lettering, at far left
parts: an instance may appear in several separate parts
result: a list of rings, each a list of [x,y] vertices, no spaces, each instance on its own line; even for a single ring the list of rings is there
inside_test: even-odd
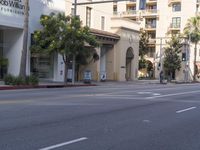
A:
[[[29,1],[29,38],[28,49],[31,44],[31,34],[41,28],[39,23],[41,14],[50,12],[64,12],[64,0],[30,0]],[[19,75],[21,51],[23,45],[23,24],[24,24],[24,1],[23,0],[2,0],[0,3],[0,57],[8,60],[6,69],[7,74]],[[58,56],[57,56],[58,57]],[[37,60],[37,62],[35,61]],[[52,63],[53,61],[53,63]],[[58,73],[54,70],[58,68],[56,60],[49,61],[47,57],[31,56],[30,51],[27,55],[26,72],[29,75],[34,66],[38,66],[40,73],[51,79],[57,79]],[[53,70],[54,68],[54,70]],[[1,69],[1,78],[3,78]]]

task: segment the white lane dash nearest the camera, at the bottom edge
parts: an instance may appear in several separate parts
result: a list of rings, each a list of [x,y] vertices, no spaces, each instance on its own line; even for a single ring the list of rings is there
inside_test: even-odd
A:
[[[88,139],[87,137],[82,137],[82,138],[71,140],[71,141],[68,141],[68,142],[64,142],[64,143],[52,145],[52,146],[49,146],[49,147],[41,148],[39,150],[51,150],[51,149],[55,149],[55,148],[58,148],[58,147],[66,146],[66,145],[69,145],[69,144],[81,142],[81,141],[84,141],[84,140],[87,140],[87,139]]]

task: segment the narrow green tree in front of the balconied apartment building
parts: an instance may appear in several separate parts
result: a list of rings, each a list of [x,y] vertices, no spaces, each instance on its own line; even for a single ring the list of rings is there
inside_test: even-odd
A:
[[[176,70],[181,68],[181,58],[179,56],[181,52],[182,39],[180,36],[172,36],[170,41],[167,42],[167,47],[165,47],[165,58],[164,58],[164,69],[168,75],[170,75],[170,81],[172,79],[172,74]]]

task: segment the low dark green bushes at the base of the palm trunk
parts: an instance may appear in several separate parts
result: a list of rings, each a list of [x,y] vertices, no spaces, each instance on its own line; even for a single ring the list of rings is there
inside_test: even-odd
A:
[[[33,75],[27,76],[25,80],[20,76],[6,75],[4,82],[6,85],[38,85],[39,80]]]

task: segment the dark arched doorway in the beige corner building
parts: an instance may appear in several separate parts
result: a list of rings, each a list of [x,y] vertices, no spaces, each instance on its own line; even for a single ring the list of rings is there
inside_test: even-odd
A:
[[[134,58],[133,48],[129,47],[126,52],[126,80],[131,80],[132,75],[132,60]]]

